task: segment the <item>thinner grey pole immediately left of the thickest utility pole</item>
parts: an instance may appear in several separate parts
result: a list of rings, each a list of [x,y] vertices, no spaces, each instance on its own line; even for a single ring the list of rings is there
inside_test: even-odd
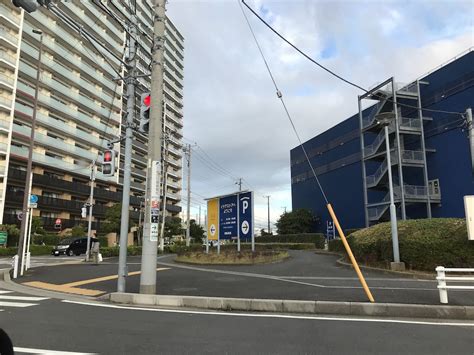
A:
[[[130,175],[132,170],[133,118],[135,116],[135,67],[137,17],[132,14],[130,24],[129,47],[127,56],[127,123],[125,128],[125,156],[123,165],[122,214],[120,219],[120,250],[117,279],[117,292],[125,292],[127,270],[128,220],[130,209]]]

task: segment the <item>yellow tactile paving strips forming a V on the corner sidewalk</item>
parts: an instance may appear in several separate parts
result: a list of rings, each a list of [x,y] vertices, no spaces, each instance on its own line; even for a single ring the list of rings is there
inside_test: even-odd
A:
[[[160,267],[156,269],[156,271],[164,271],[164,270],[169,270],[169,268]],[[128,276],[135,276],[139,274],[141,274],[141,271],[133,271],[133,272],[129,272]],[[56,284],[51,284],[51,283],[41,282],[41,281],[24,282],[23,285],[32,286],[36,288],[42,288],[44,290],[50,290],[50,291],[73,293],[73,294],[82,295],[82,296],[99,296],[106,292],[100,291],[100,290],[90,290],[86,288],[79,288],[77,286],[83,286],[83,285],[92,284],[96,282],[102,282],[102,281],[115,280],[117,278],[118,278],[117,275],[110,275],[110,276],[97,277],[95,279],[69,282],[62,285],[56,285]]]

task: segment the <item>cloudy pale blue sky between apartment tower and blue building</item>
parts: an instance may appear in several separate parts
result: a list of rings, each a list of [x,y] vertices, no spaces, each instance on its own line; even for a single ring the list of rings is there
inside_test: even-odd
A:
[[[310,57],[370,88],[408,83],[474,46],[474,1],[246,0]],[[359,89],[294,51],[245,7],[304,141],[357,112]],[[238,0],[170,0],[185,38],[184,143],[191,159],[191,218],[205,198],[254,191],[255,223],[291,211],[290,150],[298,140],[276,96]],[[186,177],[183,197],[186,196]],[[183,200],[183,210],[185,210]]]

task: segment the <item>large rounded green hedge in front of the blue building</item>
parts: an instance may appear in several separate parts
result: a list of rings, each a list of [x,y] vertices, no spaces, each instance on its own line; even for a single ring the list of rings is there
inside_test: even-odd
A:
[[[438,265],[474,266],[474,242],[467,239],[463,219],[399,221],[398,239],[400,259],[409,269],[434,271]],[[352,233],[348,242],[355,257],[363,263],[388,265],[393,261],[389,222]],[[341,247],[340,240],[329,242],[329,250],[341,251]]]

